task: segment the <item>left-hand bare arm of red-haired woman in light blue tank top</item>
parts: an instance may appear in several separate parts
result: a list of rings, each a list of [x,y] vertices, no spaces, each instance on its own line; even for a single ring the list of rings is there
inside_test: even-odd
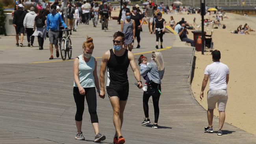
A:
[[[83,89],[83,87],[81,86],[80,84],[80,81],[79,81],[79,69],[78,69],[78,66],[79,65],[79,59],[76,58],[74,60],[74,65],[73,65],[73,73],[74,73],[74,81],[76,83],[76,85],[78,86],[78,89],[79,89],[79,93],[84,95],[85,94],[85,90]]]

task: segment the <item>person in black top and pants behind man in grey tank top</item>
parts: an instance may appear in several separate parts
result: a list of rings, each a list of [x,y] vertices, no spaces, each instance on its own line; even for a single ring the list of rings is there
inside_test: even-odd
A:
[[[132,15],[131,19],[135,21],[135,37],[137,38],[138,46],[137,48],[140,48],[139,42],[141,41],[140,33],[141,33],[141,26],[143,25],[143,17],[141,14],[138,13],[138,9],[134,6],[132,7]],[[141,22],[140,22],[141,20]],[[132,47],[134,46],[134,40],[132,41]]]

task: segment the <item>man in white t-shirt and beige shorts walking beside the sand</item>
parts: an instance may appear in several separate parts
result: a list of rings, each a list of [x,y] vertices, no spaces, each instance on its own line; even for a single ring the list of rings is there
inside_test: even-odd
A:
[[[219,109],[219,131],[218,135],[222,135],[222,127],[225,121],[225,108],[228,101],[227,84],[229,79],[229,68],[227,65],[221,63],[221,52],[214,50],[211,52],[213,63],[206,66],[204,72],[204,79],[202,82],[202,89],[200,93],[200,99],[204,97],[204,89],[207,85],[210,77],[209,91],[207,93],[208,103],[208,127],[204,128],[204,131],[213,133],[212,121],[213,121],[213,110],[215,109],[216,103],[218,103]]]

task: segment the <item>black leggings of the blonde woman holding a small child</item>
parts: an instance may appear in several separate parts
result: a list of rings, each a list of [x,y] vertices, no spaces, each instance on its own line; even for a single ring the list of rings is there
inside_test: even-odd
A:
[[[154,113],[155,113],[155,123],[158,123],[158,117],[159,117],[159,99],[160,99],[160,93],[158,92],[158,89],[161,91],[161,85],[157,83],[150,83],[152,85],[152,91],[155,93],[153,94],[150,90],[150,86],[148,86],[147,92],[143,92],[143,109],[145,117],[148,118],[148,100],[150,96],[152,96],[153,105],[154,105]]]

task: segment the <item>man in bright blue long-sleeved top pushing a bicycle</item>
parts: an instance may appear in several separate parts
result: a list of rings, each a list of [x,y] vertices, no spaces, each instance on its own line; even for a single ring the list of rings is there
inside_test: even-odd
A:
[[[61,15],[56,11],[57,7],[55,5],[51,6],[52,13],[47,15],[46,19],[46,36],[49,37],[50,40],[50,53],[51,56],[49,59],[53,59],[53,44],[56,48],[56,57],[59,57],[59,50],[58,50],[58,39],[59,39],[59,23],[67,29],[67,26]]]

